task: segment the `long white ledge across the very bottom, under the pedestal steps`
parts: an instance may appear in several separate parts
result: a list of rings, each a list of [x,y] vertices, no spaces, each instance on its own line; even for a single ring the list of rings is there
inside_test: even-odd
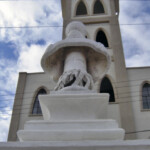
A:
[[[0,150],[150,150],[150,140],[80,142],[8,142]]]

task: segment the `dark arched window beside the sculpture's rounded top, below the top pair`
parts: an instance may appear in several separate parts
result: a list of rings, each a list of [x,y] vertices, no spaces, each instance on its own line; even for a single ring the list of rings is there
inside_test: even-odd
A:
[[[100,42],[105,47],[109,47],[106,35],[105,35],[105,33],[102,30],[98,31],[97,36],[96,36],[96,42]]]

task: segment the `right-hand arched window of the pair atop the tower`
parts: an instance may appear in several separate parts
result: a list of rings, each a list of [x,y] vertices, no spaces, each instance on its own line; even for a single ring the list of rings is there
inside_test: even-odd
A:
[[[101,14],[104,13],[104,7],[100,0],[96,0],[94,4],[93,14]]]

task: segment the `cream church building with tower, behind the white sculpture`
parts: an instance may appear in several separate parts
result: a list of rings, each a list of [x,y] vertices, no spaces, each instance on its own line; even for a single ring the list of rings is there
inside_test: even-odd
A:
[[[125,130],[126,140],[149,139],[150,68],[125,66],[118,23],[119,0],[62,0],[61,2],[64,21],[63,39],[66,38],[66,26],[72,21],[80,21],[87,31],[84,38],[102,43],[109,55],[110,66],[102,78],[98,77],[99,68],[105,67],[106,63],[102,62],[97,67],[95,63],[99,62],[99,58],[92,58],[92,54],[91,57],[88,56],[90,61],[87,62],[88,65],[91,64],[91,70],[94,70],[93,89],[97,93],[110,95],[106,118],[117,121],[119,128]],[[55,76],[50,78],[45,72],[19,74],[8,141],[18,141],[17,131],[23,130],[27,121],[43,120],[38,95],[51,94],[57,81]]]

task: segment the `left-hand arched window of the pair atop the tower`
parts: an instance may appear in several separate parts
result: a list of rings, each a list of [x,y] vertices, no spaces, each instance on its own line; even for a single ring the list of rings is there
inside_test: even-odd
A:
[[[86,15],[87,14],[87,9],[83,1],[80,1],[77,10],[76,10],[76,16],[79,15]]]

